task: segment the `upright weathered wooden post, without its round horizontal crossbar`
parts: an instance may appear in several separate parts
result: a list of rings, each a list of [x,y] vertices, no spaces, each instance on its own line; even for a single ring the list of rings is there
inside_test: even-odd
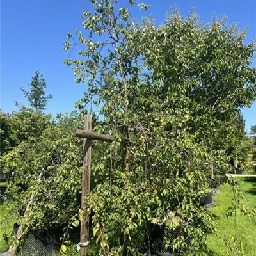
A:
[[[92,116],[84,115],[84,132],[92,131]],[[84,209],[84,196],[90,193],[90,177],[91,177],[91,153],[92,140],[84,139],[83,141],[83,177],[82,177],[82,195],[81,195],[81,208]],[[83,246],[84,243],[89,241],[89,216],[86,214],[81,223],[80,232],[80,255],[88,256],[88,245]]]

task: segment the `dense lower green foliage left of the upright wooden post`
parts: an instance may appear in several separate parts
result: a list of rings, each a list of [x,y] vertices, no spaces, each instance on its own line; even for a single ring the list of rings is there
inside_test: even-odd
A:
[[[38,122],[45,118],[42,113],[33,113]],[[81,118],[76,113],[58,115],[40,133],[35,132],[1,156],[4,172],[15,173],[6,191],[12,196],[8,201],[12,220],[15,216],[18,223],[22,220],[26,205],[34,195],[25,232],[63,225],[79,209],[82,145],[72,134],[80,125]],[[42,176],[40,180],[39,176]]]

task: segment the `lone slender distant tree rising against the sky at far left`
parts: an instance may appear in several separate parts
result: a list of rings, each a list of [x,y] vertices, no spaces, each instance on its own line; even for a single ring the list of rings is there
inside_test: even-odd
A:
[[[35,111],[43,111],[47,105],[47,101],[52,99],[52,95],[46,95],[46,83],[43,75],[36,71],[35,76],[31,79],[29,84],[30,91],[26,91],[24,88],[21,88],[22,92],[26,99],[28,100],[29,105],[35,109]]]

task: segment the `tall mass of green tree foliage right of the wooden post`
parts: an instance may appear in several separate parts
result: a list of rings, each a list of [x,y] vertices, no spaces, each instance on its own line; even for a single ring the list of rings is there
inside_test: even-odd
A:
[[[243,134],[234,120],[255,99],[255,43],[245,45],[245,33],[225,20],[200,24],[194,12],[184,18],[174,10],[158,28],[152,19],[131,22],[127,8],[115,14],[116,1],[91,3],[95,13],[83,11],[84,32],[64,42],[65,51],[80,45],[80,58],[64,63],[77,83],[88,84],[80,106],[102,106],[94,130],[116,138],[93,149],[93,188],[84,198],[95,213],[98,253],[140,255],[145,224],[158,220],[167,247],[186,247],[189,232],[186,255],[200,255],[213,225],[199,207],[208,189],[205,162],[220,173],[232,169],[228,141]],[[170,241],[177,225],[183,236]]]

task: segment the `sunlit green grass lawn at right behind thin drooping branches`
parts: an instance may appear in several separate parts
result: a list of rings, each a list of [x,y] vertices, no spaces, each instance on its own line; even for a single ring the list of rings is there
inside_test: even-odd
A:
[[[250,178],[236,178],[243,188],[248,201],[252,207],[256,208],[256,179],[254,177]],[[218,227],[223,230],[223,232],[230,236],[234,232],[234,216],[232,218],[225,218],[225,211],[230,205],[232,200],[232,189],[228,184],[220,187],[221,193],[214,196],[214,201],[217,202],[216,206],[211,209],[215,216],[215,221]],[[254,221],[247,218],[240,212],[237,212],[236,217],[236,234],[243,243],[243,249],[246,256],[256,256],[256,225]],[[210,235],[207,239],[207,244],[212,250],[212,255],[214,256],[225,256],[227,252],[224,250],[224,246],[221,243],[221,235]]]

